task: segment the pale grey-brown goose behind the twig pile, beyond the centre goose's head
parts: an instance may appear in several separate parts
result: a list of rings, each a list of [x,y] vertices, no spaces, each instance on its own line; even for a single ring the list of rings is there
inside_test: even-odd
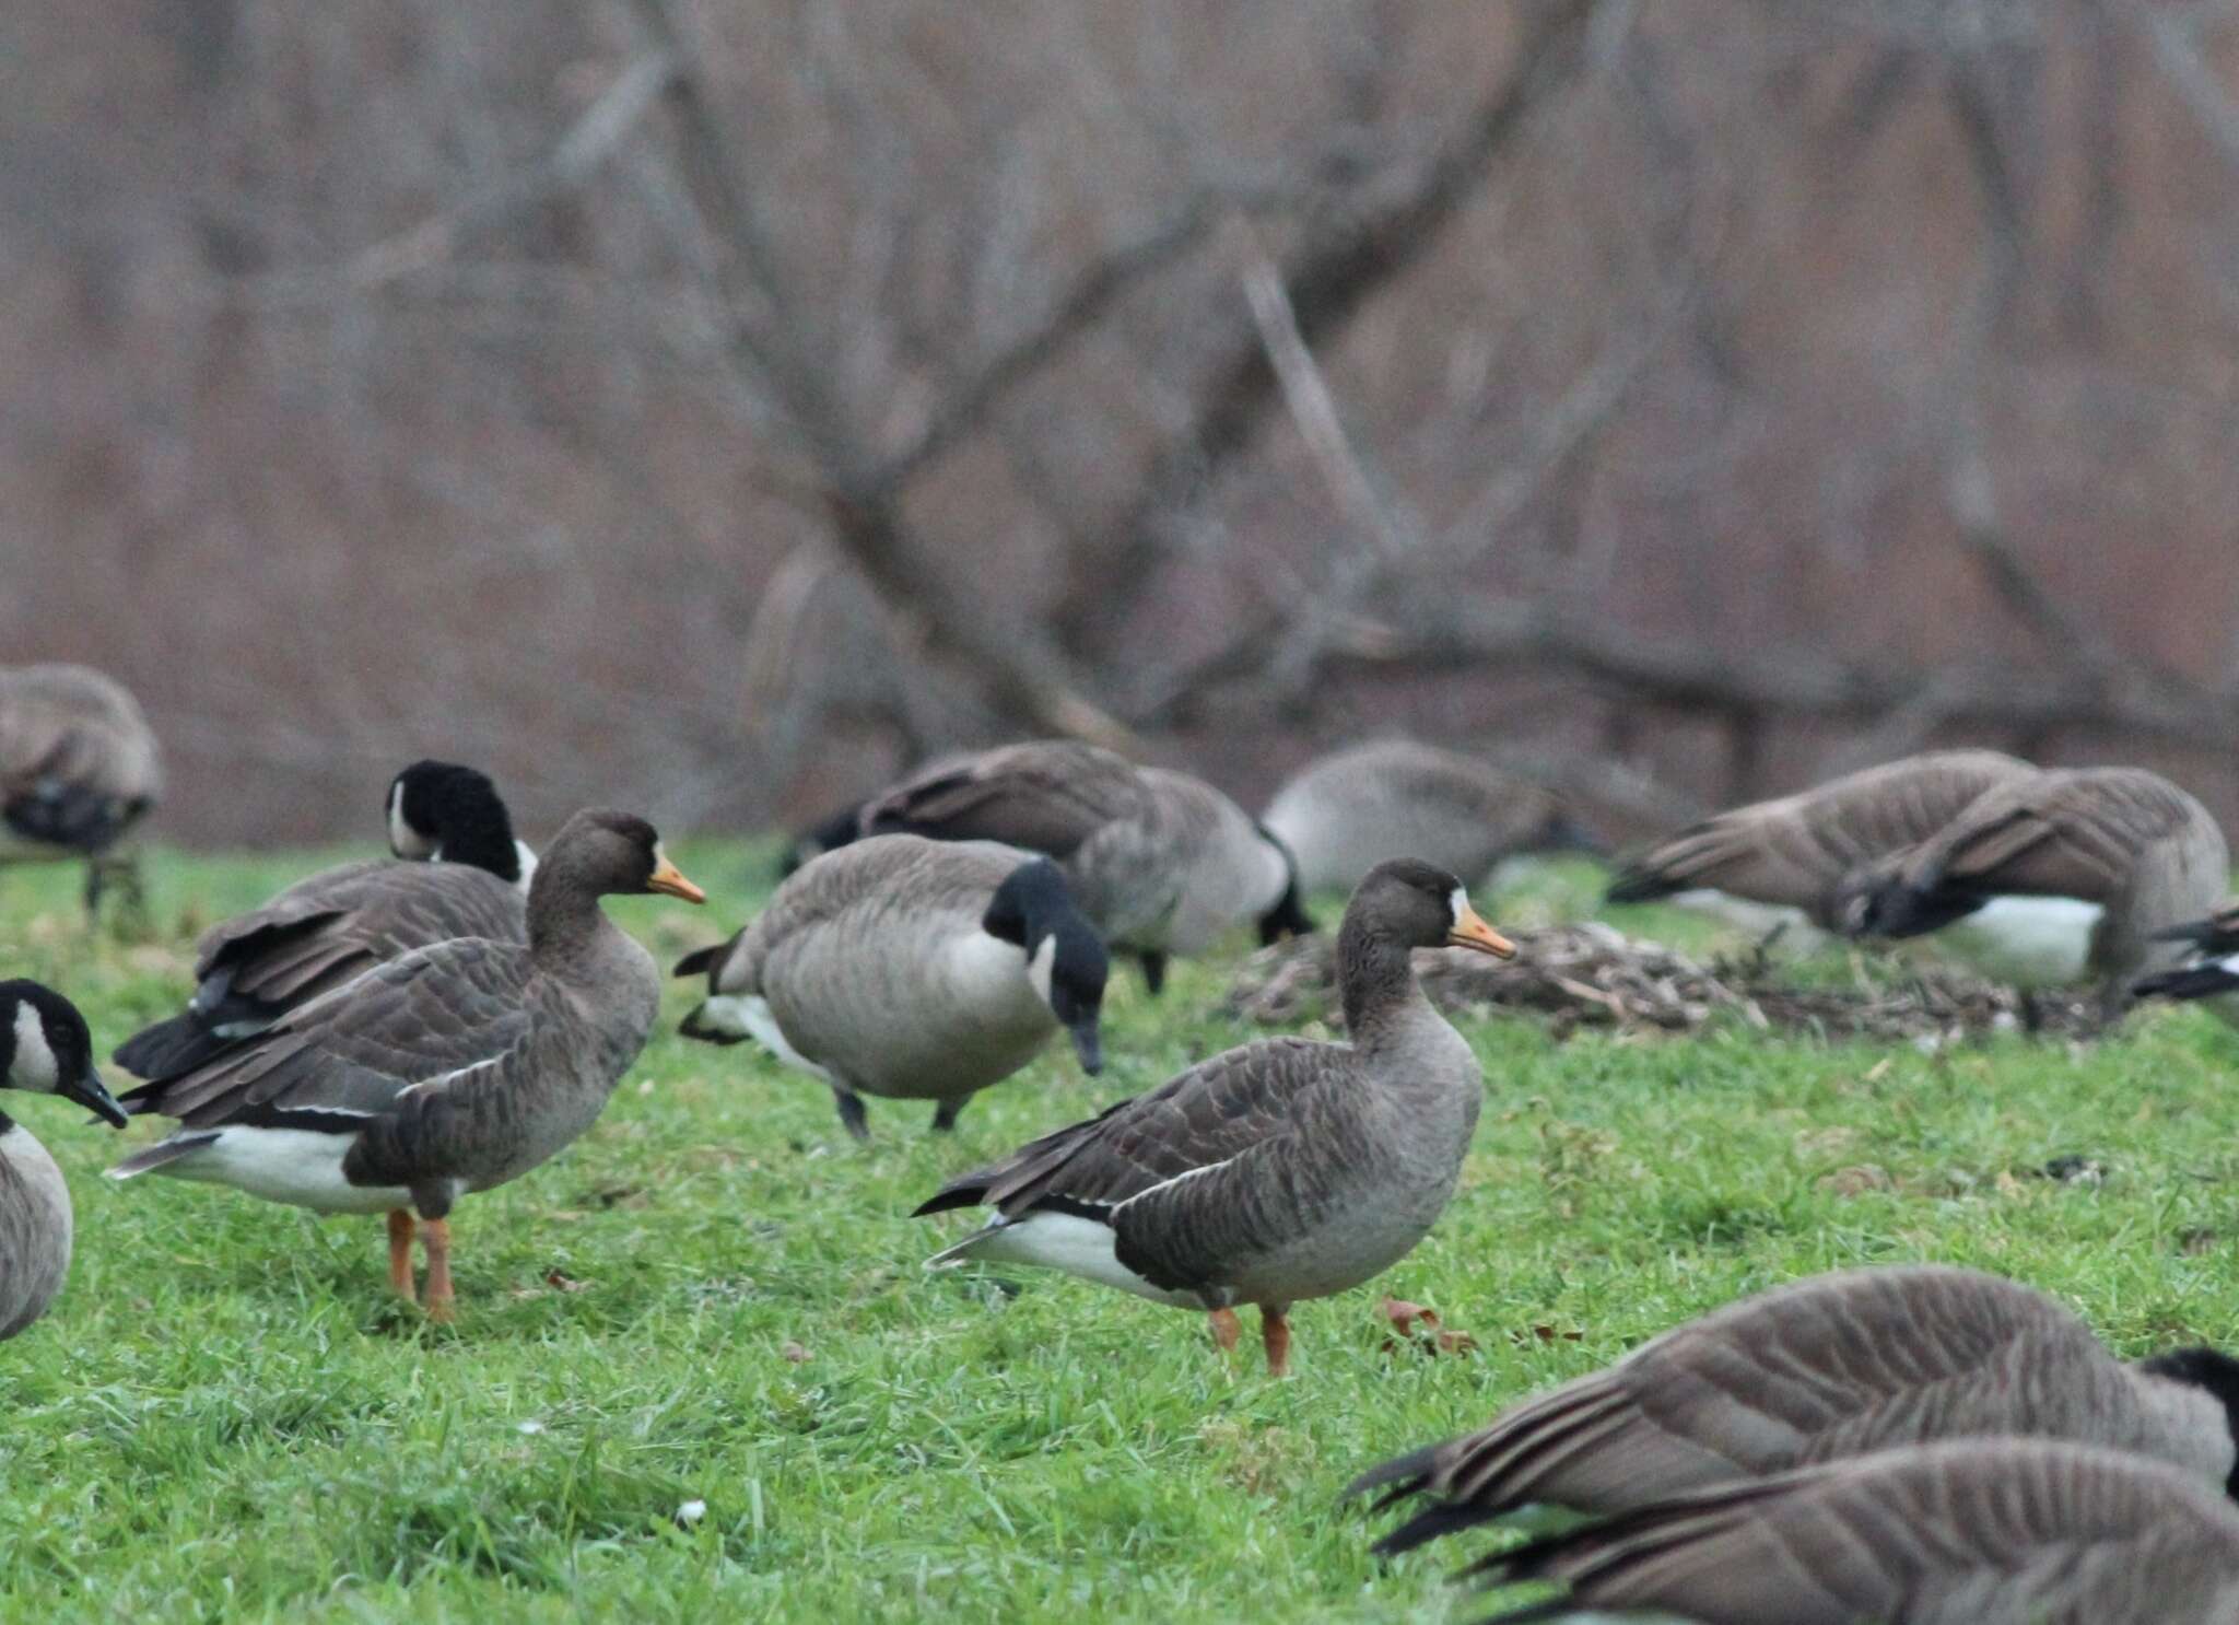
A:
[[[1422,857],[1464,884],[1525,853],[1592,851],[1556,790],[1413,739],[1317,757],[1267,810],[1305,891],[1352,891],[1390,857]]]

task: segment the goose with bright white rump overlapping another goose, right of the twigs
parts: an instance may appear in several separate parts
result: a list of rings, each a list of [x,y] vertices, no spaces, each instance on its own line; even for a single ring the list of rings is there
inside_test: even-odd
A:
[[[2176,951],[2158,933],[2230,884],[2214,817],[2140,768],[2051,768],[1993,786],[1847,882],[1843,927],[1912,938],[2022,987],[2093,978],[2105,1014]]]

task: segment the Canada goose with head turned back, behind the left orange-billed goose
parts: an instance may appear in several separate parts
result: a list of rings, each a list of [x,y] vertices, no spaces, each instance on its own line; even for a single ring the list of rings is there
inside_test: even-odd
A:
[[[412,949],[528,940],[535,855],[486,774],[416,761],[390,781],[385,806],[390,851],[423,862],[325,868],[210,927],[195,945],[188,1007],[125,1039],[116,1065],[161,1083]]]

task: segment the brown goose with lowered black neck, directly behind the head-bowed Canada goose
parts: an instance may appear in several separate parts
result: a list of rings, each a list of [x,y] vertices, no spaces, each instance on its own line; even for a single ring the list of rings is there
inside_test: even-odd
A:
[[[1064,739],[940,761],[862,810],[873,835],[985,839],[1043,853],[1155,994],[1167,958],[1245,922],[1261,942],[1312,931],[1290,851],[1202,779]]]

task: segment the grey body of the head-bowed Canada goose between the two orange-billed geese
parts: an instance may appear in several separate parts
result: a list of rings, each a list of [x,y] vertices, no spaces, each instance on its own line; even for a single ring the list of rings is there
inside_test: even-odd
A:
[[[716,951],[710,994],[763,1001],[788,1050],[851,1090],[965,1099],[1057,1032],[1021,949],[981,929],[1025,862],[996,842],[916,835],[833,848]]]

